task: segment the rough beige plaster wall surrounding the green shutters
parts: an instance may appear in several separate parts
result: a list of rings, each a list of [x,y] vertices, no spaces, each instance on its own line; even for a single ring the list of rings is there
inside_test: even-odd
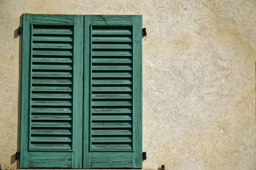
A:
[[[143,15],[143,168],[256,169],[255,0],[0,0],[3,169],[18,167],[23,13]]]

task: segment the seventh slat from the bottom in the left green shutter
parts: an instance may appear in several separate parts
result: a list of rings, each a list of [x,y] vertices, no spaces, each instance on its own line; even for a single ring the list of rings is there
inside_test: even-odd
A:
[[[32,99],[31,105],[34,106],[72,106],[72,101],[71,100],[35,100]]]

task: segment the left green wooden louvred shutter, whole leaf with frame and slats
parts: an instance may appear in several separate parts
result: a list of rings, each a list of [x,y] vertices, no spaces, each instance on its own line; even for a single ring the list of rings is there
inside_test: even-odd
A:
[[[21,168],[81,168],[83,23],[23,14]]]

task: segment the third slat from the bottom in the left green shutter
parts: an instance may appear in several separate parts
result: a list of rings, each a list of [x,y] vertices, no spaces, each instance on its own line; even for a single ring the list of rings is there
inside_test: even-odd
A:
[[[32,135],[71,135],[70,129],[31,129]]]

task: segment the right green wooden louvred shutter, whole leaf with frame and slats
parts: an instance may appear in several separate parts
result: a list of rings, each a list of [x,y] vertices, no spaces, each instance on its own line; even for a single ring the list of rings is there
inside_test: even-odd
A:
[[[84,168],[142,168],[142,16],[85,15]]]

